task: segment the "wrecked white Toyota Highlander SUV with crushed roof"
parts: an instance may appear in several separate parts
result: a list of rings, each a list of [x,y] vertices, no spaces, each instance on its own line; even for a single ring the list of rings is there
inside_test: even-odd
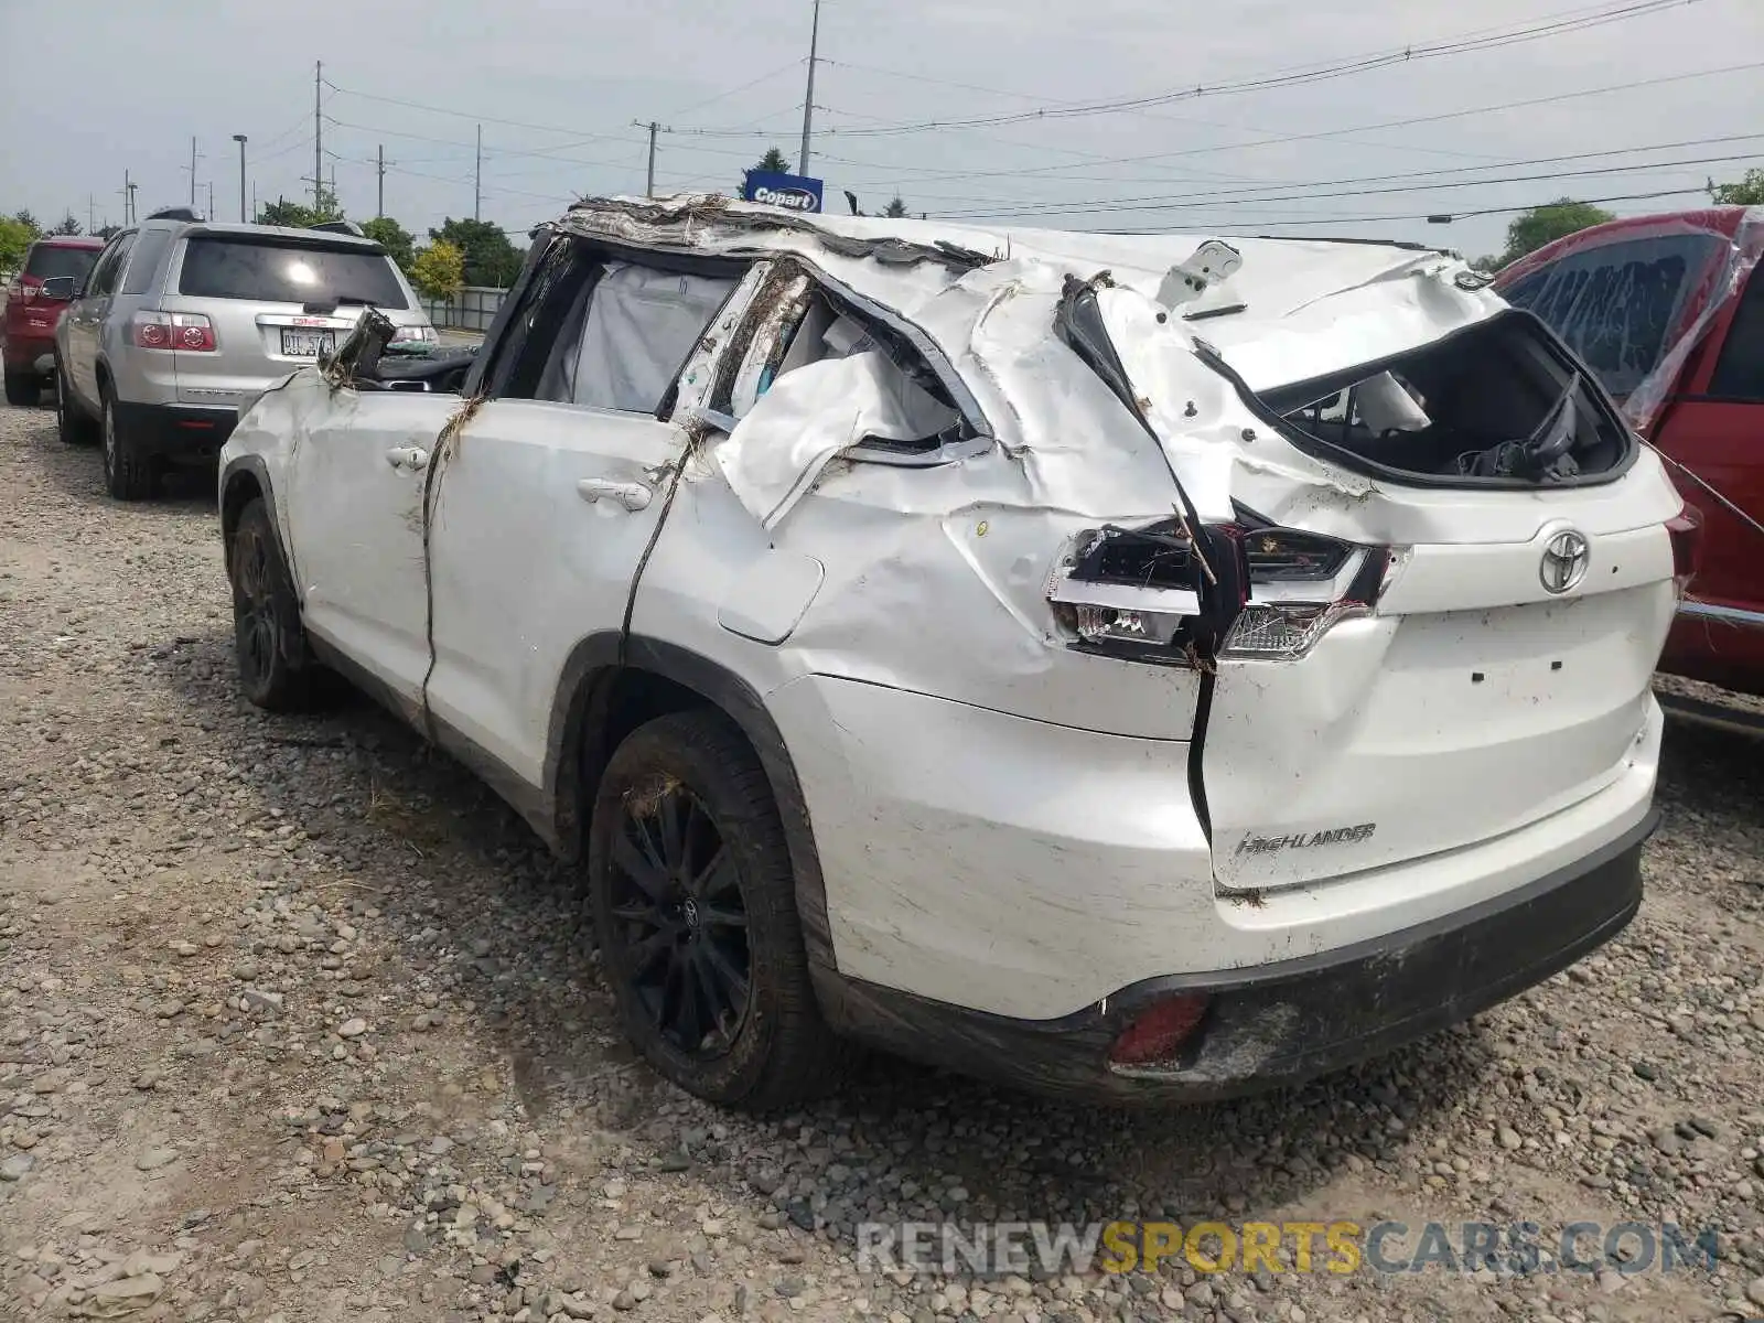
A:
[[[847,1039],[1304,1080],[1641,900],[1695,527],[1455,256],[587,201],[453,390],[369,314],[242,406],[240,679],[342,672],[580,859],[704,1097]]]

